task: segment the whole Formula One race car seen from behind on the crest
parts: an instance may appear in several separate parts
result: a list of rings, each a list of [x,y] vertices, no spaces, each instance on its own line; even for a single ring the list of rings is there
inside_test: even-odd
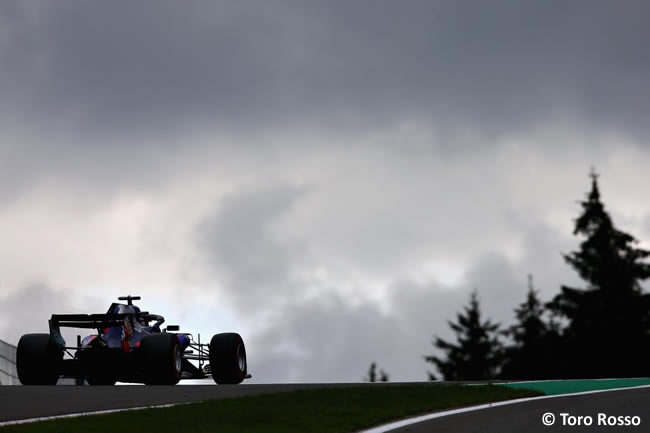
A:
[[[195,341],[191,334],[173,332],[178,326],[161,330],[162,316],[133,305],[139,296],[118,299],[127,303],[111,304],[106,314],[53,314],[49,334],[23,335],[16,350],[20,382],[55,385],[59,377],[70,377],[90,385],[175,385],[181,379],[212,376],[221,385],[251,377],[239,334],[216,334],[210,344],[203,344],[200,334]],[[61,336],[62,327],[97,333],[83,339],[78,335],[77,346],[71,347]]]

